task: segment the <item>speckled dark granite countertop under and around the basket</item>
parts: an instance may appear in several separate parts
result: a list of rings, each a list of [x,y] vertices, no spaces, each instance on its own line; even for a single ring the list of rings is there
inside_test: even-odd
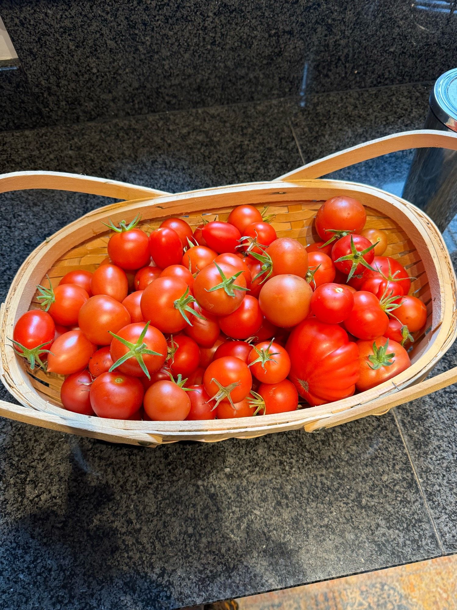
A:
[[[73,171],[172,192],[271,179],[420,127],[429,90],[5,132],[0,170]],[[339,174],[399,193],[410,161],[395,153]],[[1,298],[44,237],[100,204],[71,193],[1,195]],[[453,231],[445,237],[454,249]],[[452,348],[437,370],[455,356]],[[1,419],[0,608],[172,609],[456,552],[455,404],[451,387],[321,434],[155,450]]]

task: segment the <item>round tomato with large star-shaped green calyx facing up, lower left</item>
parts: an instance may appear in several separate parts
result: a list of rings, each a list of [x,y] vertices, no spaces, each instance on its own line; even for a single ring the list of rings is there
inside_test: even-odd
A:
[[[141,377],[155,373],[167,354],[163,334],[149,322],[135,322],[121,328],[113,337],[110,349],[113,367],[125,375]]]

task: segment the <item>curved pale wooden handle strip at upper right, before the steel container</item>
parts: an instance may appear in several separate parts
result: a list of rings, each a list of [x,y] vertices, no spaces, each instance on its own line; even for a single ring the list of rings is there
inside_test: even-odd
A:
[[[370,140],[344,151],[334,152],[317,161],[312,161],[299,167],[297,170],[277,178],[277,181],[299,182],[321,178],[333,171],[342,170],[355,163],[368,159],[381,157],[389,152],[405,151],[410,148],[448,148],[457,150],[457,134],[444,131],[419,129],[417,131],[403,131],[400,134],[386,135],[383,138]]]

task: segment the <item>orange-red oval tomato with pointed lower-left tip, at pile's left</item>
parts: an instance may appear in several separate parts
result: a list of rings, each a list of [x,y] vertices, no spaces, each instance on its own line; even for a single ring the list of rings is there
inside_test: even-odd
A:
[[[48,354],[48,372],[71,375],[86,368],[96,346],[82,331],[68,331],[52,343],[52,353]]]

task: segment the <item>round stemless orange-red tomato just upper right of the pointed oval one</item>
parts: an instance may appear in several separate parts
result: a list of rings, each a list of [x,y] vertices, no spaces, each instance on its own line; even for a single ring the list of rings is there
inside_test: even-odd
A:
[[[79,310],[79,328],[96,345],[110,345],[113,337],[108,331],[118,332],[127,324],[130,324],[129,312],[111,296],[91,296]]]

